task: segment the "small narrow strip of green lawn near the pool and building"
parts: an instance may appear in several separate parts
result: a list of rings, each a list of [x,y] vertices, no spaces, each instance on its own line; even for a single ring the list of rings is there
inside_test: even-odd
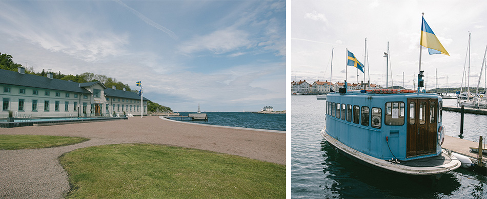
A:
[[[0,135],[0,149],[38,149],[60,147],[88,141],[84,137],[49,135]]]

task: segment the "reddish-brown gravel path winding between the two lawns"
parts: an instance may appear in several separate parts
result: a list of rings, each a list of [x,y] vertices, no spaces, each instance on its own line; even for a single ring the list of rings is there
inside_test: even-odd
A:
[[[286,164],[286,134],[195,125],[157,116],[129,120],[43,127],[0,128],[0,134],[80,136],[90,141],[47,149],[0,150],[0,198],[63,198],[68,175],[63,153],[89,146],[151,143],[189,147]]]

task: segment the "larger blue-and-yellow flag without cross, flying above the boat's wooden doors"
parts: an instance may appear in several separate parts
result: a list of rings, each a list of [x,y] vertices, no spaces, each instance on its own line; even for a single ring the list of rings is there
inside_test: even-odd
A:
[[[433,30],[428,26],[428,23],[424,21],[424,17],[423,22],[421,23],[421,41],[419,44],[427,47],[430,54],[445,54],[450,56],[443,45],[441,45],[440,41],[438,41]]]

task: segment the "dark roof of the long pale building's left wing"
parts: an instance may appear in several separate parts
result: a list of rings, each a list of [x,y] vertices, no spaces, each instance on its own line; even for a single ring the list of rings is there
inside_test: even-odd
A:
[[[0,69],[0,84],[91,94],[90,91],[79,87],[79,83],[76,82],[51,79],[32,74],[21,74],[2,69]]]

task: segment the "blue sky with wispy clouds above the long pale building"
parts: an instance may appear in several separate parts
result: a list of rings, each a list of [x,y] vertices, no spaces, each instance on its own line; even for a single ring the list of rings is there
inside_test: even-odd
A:
[[[285,1],[0,1],[0,52],[174,111],[286,109]]]

